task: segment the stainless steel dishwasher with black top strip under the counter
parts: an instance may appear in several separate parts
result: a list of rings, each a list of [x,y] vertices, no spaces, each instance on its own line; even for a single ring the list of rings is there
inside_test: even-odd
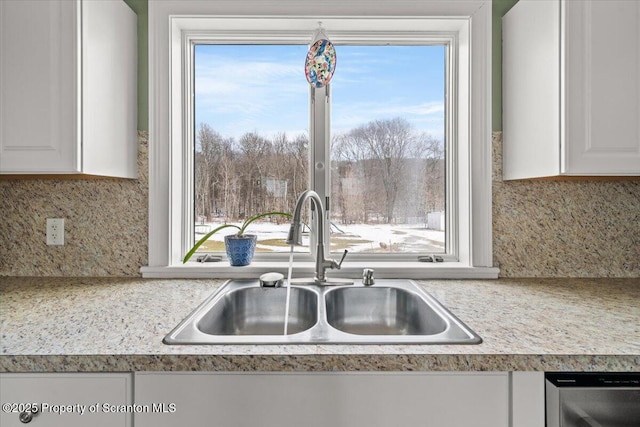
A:
[[[640,373],[546,373],[547,427],[640,426]]]

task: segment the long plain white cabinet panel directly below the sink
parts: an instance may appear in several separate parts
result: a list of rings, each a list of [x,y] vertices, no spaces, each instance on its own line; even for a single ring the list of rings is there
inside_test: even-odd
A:
[[[136,427],[506,427],[506,373],[137,373]]]

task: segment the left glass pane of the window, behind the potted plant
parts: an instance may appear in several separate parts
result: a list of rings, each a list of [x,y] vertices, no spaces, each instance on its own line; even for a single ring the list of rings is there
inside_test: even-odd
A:
[[[305,45],[195,47],[195,239],[222,224],[293,212],[308,188],[309,85]],[[252,223],[258,251],[288,252],[290,222]],[[224,229],[201,247],[223,252]],[[306,250],[300,249],[298,250]]]

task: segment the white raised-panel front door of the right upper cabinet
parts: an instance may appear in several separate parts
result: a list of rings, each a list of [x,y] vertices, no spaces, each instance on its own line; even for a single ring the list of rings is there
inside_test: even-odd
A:
[[[565,1],[561,172],[640,174],[640,2]]]

